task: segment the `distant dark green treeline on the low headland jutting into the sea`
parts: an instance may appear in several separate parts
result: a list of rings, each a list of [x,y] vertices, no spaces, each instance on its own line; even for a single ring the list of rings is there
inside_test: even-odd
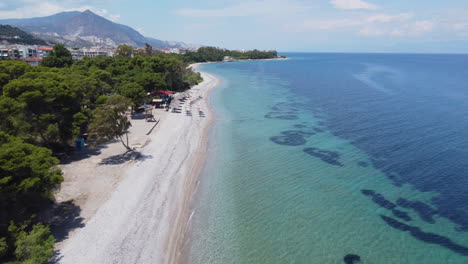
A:
[[[212,62],[212,61],[223,61],[224,57],[231,57],[238,60],[247,59],[273,59],[278,57],[276,51],[234,51],[227,49],[220,49],[215,47],[202,47],[197,51],[187,52],[184,55],[184,61],[186,62]]]

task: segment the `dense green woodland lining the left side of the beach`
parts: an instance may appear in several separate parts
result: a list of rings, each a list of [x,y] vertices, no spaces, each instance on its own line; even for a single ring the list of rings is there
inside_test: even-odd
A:
[[[109,98],[138,106],[148,92],[185,91],[200,81],[176,55],[73,62],[57,45],[42,66],[0,61],[0,262],[52,256],[55,240],[36,215],[63,181],[56,156],[88,131]]]

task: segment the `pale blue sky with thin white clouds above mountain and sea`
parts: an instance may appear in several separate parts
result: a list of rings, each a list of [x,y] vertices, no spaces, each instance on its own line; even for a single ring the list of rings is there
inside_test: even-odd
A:
[[[468,53],[468,0],[2,0],[0,18],[86,9],[147,37],[229,49]]]

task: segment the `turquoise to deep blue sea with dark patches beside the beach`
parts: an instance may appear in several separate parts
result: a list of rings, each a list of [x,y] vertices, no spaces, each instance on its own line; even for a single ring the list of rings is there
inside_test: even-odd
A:
[[[468,55],[281,55],[200,68],[189,263],[468,263]]]

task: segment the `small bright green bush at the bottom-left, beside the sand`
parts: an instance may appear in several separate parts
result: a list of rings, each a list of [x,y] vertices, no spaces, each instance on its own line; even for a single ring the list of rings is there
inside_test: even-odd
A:
[[[46,263],[54,253],[54,243],[49,227],[37,224],[29,233],[20,231],[17,234],[15,256],[24,264]]]

